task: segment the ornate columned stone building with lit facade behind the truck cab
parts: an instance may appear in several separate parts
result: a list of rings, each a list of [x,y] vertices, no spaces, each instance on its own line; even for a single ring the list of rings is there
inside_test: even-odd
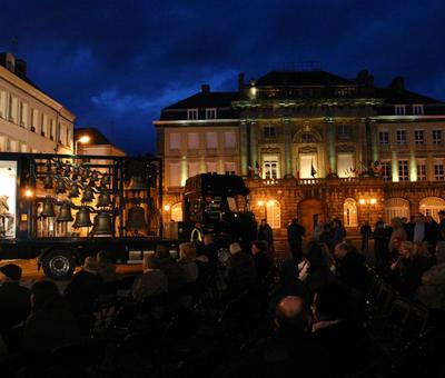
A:
[[[199,172],[236,173],[257,217],[279,235],[299,217],[338,217],[356,230],[445,208],[445,103],[404,88],[377,87],[362,71],[271,71],[238,90],[209,86],[155,121],[165,160],[166,217],[181,217],[181,187]]]

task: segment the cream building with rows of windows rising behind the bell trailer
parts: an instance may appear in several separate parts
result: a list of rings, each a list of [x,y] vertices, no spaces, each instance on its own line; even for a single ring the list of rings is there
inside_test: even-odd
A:
[[[23,60],[0,53],[0,152],[72,153],[75,119],[28,79]]]

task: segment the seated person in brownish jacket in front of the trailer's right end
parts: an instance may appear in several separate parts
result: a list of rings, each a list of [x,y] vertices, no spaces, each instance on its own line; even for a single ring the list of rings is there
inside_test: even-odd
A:
[[[146,301],[152,296],[161,295],[168,290],[166,273],[160,270],[160,261],[155,256],[146,256],[142,263],[144,273],[135,280],[131,289],[137,301]]]

